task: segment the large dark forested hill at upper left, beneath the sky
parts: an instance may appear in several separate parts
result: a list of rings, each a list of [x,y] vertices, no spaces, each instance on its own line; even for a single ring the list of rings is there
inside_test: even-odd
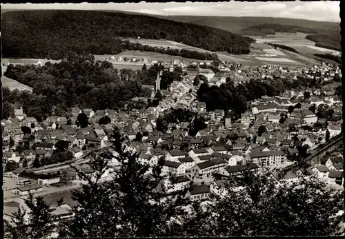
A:
[[[70,50],[118,54],[126,50],[118,37],[166,39],[210,51],[236,47],[248,54],[253,41],[216,28],[121,12],[10,11],[2,20],[4,57],[57,59]]]

